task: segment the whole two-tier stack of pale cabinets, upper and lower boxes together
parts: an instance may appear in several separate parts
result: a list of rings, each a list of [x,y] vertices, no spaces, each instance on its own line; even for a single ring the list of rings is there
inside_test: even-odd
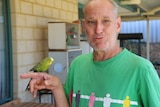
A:
[[[82,54],[80,49],[80,30],[77,23],[48,23],[48,56],[54,63],[48,72],[60,78],[65,83],[68,68],[72,60]]]

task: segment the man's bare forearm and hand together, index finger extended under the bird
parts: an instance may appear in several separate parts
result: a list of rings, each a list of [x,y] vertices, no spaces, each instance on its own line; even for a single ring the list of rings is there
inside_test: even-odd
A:
[[[22,79],[32,78],[30,82],[30,92],[34,97],[37,96],[37,91],[48,89],[52,91],[55,99],[56,107],[69,107],[62,83],[56,76],[47,73],[27,73],[20,75]]]

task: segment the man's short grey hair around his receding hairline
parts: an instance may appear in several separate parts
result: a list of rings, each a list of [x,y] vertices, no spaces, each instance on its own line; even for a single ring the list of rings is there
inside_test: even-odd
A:
[[[87,6],[91,1],[96,1],[96,0],[88,0],[88,1],[86,1],[86,2],[85,2],[85,5],[84,5],[84,8],[83,8],[83,13],[85,12],[86,6]],[[99,0],[99,1],[101,1],[101,0]],[[114,12],[115,12],[115,14],[118,15],[118,4],[117,4],[115,1],[113,1],[113,0],[106,0],[106,1],[109,1],[109,2],[112,4],[112,6],[114,7]]]

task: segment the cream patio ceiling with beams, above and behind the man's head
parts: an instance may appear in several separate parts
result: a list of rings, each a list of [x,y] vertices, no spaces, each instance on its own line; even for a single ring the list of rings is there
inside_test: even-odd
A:
[[[82,5],[87,0],[78,0]],[[160,0],[114,0],[122,20],[160,19]]]

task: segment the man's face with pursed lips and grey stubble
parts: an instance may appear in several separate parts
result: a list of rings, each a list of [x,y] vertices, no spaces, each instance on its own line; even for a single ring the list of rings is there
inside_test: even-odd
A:
[[[83,27],[89,44],[95,50],[114,48],[120,23],[120,18],[117,18],[113,6],[108,2],[92,2],[85,9]]]

